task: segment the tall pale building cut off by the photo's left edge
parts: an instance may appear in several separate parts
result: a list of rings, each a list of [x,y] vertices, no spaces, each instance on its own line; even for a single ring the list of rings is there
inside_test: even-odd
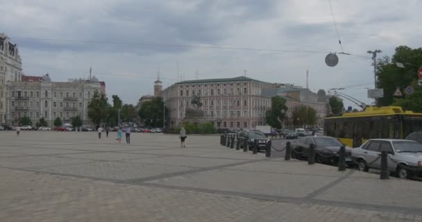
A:
[[[6,122],[6,83],[22,79],[22,59],[17,44],[0,33],[0,123]]]

